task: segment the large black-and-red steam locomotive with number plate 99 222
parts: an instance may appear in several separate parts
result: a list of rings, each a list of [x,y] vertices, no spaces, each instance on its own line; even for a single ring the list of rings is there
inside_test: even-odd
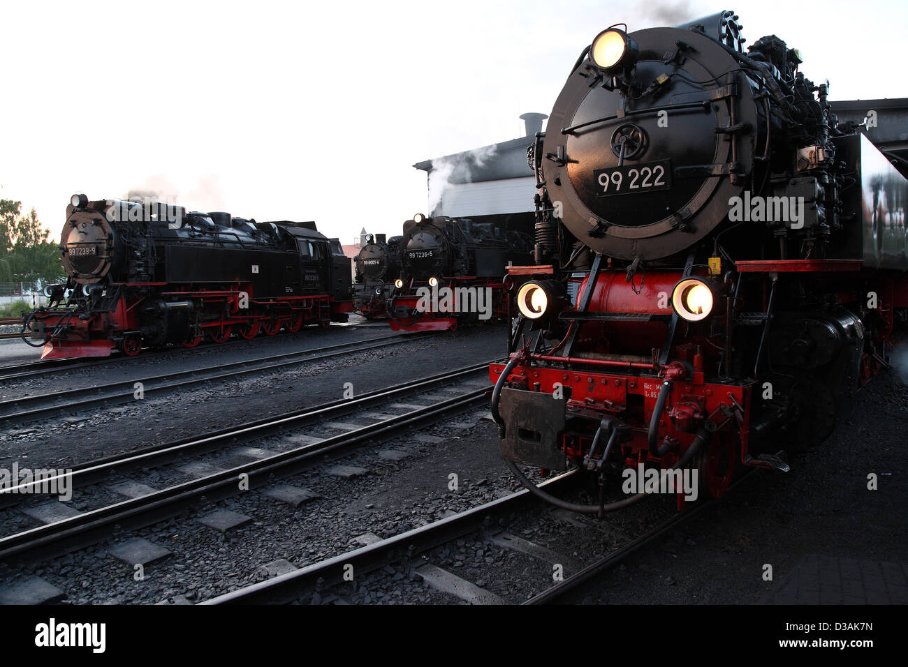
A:
[[[609,490],[628,469],[691,466],[716,497],[748,466],[789,470],[908,316],[908,181],[795,49],[745,53],[737,21],[597,34],[530,148],[534,263],[508,269],[492,414],[512,473],[570,510],[641,500]],[[598,499],[518,462],[587,471]]]

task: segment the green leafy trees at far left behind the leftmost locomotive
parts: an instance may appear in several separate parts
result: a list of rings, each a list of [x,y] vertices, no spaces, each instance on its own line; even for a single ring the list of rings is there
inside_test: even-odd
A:
[[[21,201],[0,200],[0,282],[64,280],[60,246],[50,236],[35,209],[23,215]]]

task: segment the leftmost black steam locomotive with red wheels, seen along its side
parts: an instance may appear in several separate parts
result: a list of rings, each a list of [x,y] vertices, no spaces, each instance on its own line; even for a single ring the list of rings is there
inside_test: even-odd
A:
[[[42,358],[273,336],[346,321],[352,309],[350,260],[314,222],[76,194],[60,240],[69,278],[25,315],[23,338]]]

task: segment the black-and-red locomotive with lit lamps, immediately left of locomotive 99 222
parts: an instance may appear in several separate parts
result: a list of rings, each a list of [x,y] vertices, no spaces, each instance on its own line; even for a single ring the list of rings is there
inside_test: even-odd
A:
[[[508,264],[531,258],[532,240],[517,215],[427,218],[403,224],[400,279],[389,299],[391,329],[456,330],[508,317],[502,279]]]

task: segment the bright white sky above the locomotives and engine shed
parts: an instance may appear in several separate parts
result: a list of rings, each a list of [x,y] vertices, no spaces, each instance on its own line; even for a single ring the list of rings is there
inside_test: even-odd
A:
[[[748,43],[800,48],[831,99],[908,97],[908,3],[738,0]],[[513,139],[603,28],[726,8],[609,0],[439,3],[0,0],[0,198],[58,238],[74,192],[315,220],[350,243],[426,208],[414,162]]]

